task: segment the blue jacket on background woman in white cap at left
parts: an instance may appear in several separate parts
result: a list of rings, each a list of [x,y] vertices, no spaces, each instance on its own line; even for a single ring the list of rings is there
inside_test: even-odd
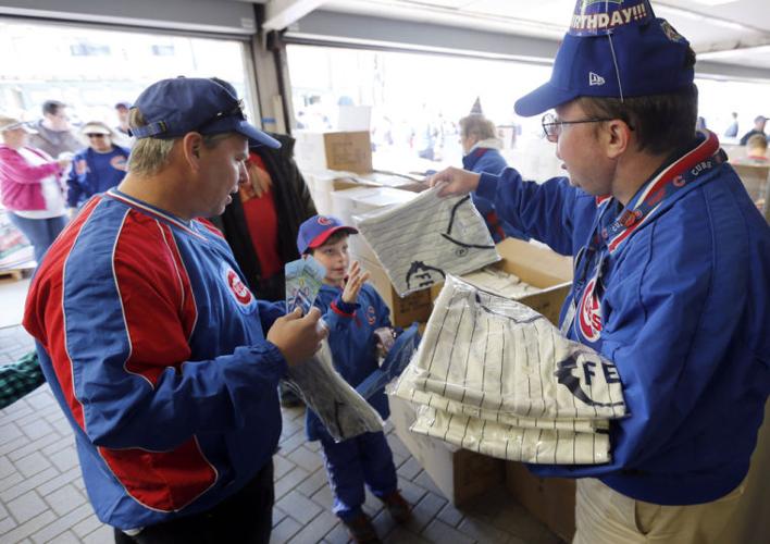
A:
[[[112,145],[109,153],[99,153],[87,147],[72,159],[67,176],[66,205],[75,208],[97,193],[104,193],[123,181],[131,151]]]

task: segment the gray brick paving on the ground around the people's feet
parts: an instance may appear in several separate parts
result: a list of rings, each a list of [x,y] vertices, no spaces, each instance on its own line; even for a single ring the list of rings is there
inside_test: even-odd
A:
[[[0,364],[32,349],[20,327],[0,329]],[[273,537],[283,543],[345,543],[345,528],[331,512],[318,443],[308,443],[303,409],[285,409],[281,449],[275,456]],[[558,544],[561,541],[512,502],[505,489],[490,490],[473,506],[457,510],[388,425],[399,486],[413,520],[398,527],[368,495],[364,506],[388,543]],[[112,530],[99,522],[86,497],[72,431],[47,385],[0,410],[0,542],[109,544]]]

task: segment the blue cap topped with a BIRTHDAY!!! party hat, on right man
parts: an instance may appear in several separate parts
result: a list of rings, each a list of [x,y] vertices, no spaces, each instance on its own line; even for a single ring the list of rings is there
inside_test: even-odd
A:
[[[550,81],[517,100],[516,112],[537,115],[579,97],[662,95],[693,84],[690,42],[647,0],[578,0],[556,54]]]

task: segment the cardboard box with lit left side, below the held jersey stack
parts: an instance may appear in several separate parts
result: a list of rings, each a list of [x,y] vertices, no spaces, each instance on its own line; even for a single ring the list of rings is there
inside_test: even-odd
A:
[[[505,480],[505,461],[460,449],[439,440],[409,432],[417,413],[398,397],[389,397],[390,421],[409,453],[425,469],[444,496],[462,506]]]

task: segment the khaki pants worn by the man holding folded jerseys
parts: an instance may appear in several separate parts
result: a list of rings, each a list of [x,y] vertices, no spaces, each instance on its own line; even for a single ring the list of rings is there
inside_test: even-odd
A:
[[[744,484],[711,503],[661,506],[634,500],[593,478],[578,480],[572,544],[717,543]]]

